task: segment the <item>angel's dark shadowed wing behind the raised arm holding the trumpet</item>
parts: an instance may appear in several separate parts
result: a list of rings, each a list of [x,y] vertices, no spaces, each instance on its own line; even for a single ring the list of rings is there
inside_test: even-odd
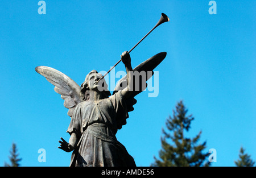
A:
[[[152,77],[152,75],[154,74],[153,70],[164,60],[166,55],[167,55],[166,52],[160,52],[160,53],[156,54],[155,56],[150,57],[150,59],[147,59],[143,63],[139,64],[137,67],[135,67],[133,69],[133,71],[138,71],[138,72],[145,71],[146,72],[146,81],[147,81],[148,79],[150,79]],[[146,81],[142,81],[142,82],[146,82]],[[116,92],[118,92],[119,90],[122,89],[123,82],[126,82],[126,84],[127,84],[127,76],[121,78],[117,82],[117,85],[115,86],[113,94],[115,94]],[[143,85],[142,82],[140,82],[139,90],[134,90],[132,96],[126,100],[126,105],[127,105],[128,111],[134,110],[133,105],[135,105],[137,103],[137,100],[135,100],[134,97],[137,96],[137,94],[141,93],[147,87],[147,83],[146,83],[146,85]],[[135,87],[135,84],[133,86]]]

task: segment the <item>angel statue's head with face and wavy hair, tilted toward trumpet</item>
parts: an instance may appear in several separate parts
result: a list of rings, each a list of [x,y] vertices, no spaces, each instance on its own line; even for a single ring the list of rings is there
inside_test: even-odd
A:
[[[90,71],[85,77],[84,82],[81,84],[80,95],[82,99],[89,100],[89,90],[95,90],[97,92],[103,92],[103,97],[108,98],[111,93],[108,90],[108,85],[104,78],[100,82],[97,82],[102,77],[101,73],[96,70]]]

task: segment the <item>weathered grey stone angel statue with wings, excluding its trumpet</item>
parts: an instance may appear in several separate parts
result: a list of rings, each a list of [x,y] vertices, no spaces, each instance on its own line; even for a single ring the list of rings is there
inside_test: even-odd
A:
[[[104,78],[101,80],[104,90],[99,89],[101,84],[98,80],[102,74],[95,70],[89,72],[79,86],[56,69],[45,66],[35,68],[36,72],[55,85],[55,92],[61,94],[64,106],[68,108],[71,122],[67,133],[71,136],[69,142],[61,138],[58,148],[73,151],[70,166],[136,166],[133,157],[118,142],[115,134],[126,125],[128,113],[134,110],[133,105],[137,102],[134,97],[146,87],[134,90],[136,85],[142,86],[142,82],[146,81],[134,82],[134,77],[138,76],[134,76],[133,72],[145,71],[148,80],[153,74],[152,70],[165,57],[166,52],[158,53],[133,69],[130,54],[123,52],[121,59],[127,75],[119,80],[112,95]]]

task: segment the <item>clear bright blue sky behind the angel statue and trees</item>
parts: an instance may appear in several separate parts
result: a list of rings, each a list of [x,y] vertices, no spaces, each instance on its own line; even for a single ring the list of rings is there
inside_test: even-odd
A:
[[[87,73],[108,71],[166,13],[170,22],[152,32],[131,53],[133,67],[158,52],[167,57],[159,71],[159,95],[136,97],[135,110],[117,138],[148,166],[158,156],[168,115],[183,100],[193,114],[194,137],[217,151],[213,166],[234,166],[240,147],[256,160],[256,2],[209,1],[38,1],[0,5],[1,147],[0,165],[9,162],[12,142],[23,166],[68,166],[71,153],[59,148],[70,118],[53,85],[35,72],[55,68],[81,84]],[[115,71],[125,71],[117,65]],[[38,150],[46,150],[46,163]]]

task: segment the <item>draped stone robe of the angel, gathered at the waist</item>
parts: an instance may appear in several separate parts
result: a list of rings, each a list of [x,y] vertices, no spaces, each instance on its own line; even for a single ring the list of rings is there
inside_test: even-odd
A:
[[[78,104],[67,130],[80,138],[70,166],[136,166],[115,137],[128,117],[121,91],[98,102]]]

